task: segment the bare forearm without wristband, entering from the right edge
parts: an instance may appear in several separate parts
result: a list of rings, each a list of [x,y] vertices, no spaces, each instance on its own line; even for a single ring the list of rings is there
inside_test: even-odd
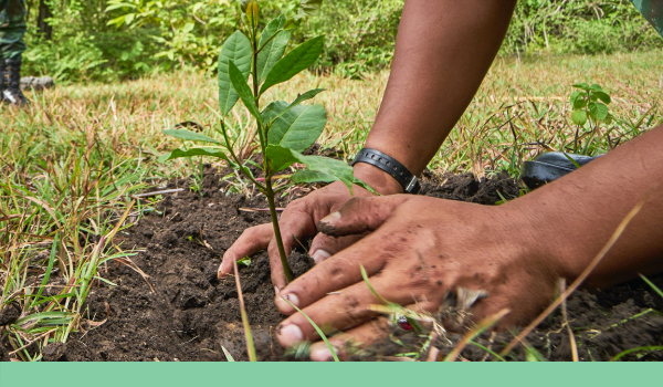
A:
[[[590,274],[589,286],[607,286],[663,270],[663,126],[611,150],[577,171],[504,206],[527,224],[561,275],[576,278],[643,198],[614,247]],[[527,230],[514,230],[527,232]]]

